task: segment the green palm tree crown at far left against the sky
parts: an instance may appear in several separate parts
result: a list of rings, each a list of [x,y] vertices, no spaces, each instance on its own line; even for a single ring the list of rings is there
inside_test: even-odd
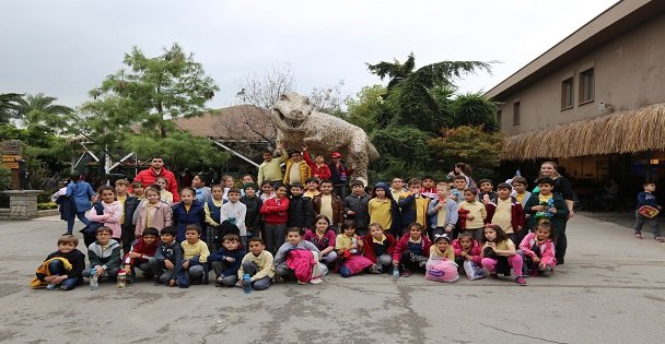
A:
[[[58,132],[65,129],[68,116],[73,109],[63,105],[52,104],[58,98],[45,96],[43,93],[26,95],[15,102],[12,107],[27,129],[42,129]]]

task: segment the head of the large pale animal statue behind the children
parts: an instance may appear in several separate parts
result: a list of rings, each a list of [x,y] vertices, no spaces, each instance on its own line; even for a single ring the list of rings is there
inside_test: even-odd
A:
[[[271,112],[276,124],[282,130],[288,130],[300,129],[313,110],[310,98],[295,92],[287,92],[275,103]]]

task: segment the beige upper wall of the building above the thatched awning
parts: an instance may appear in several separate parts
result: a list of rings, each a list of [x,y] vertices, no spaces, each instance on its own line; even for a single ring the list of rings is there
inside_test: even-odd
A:
[[[501,99],[508,135],[665,102],[665,14],[617,36],[525,88]],[[579,104],[580,72],[594,68],[594,99]],[[573,107],[561,109],[562,81],[573,76]],[[520,124],[513,124],[520,102]],[[599,109],[600,102],[612,108]]]

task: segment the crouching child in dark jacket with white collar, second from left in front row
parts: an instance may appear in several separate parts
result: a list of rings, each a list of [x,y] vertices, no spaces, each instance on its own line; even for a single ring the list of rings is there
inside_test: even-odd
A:
[[[97,228],[96,240],[88,247],[90,266],[83,271],[83,276],[116,280],[120,271],[120,244],[112,236],[109,227]]]

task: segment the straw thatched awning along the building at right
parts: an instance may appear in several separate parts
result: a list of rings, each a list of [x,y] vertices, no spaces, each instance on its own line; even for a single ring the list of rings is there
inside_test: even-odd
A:
[[[527,161],[661,150],[665,150],[665,103],[510,137],[501,158]]]

